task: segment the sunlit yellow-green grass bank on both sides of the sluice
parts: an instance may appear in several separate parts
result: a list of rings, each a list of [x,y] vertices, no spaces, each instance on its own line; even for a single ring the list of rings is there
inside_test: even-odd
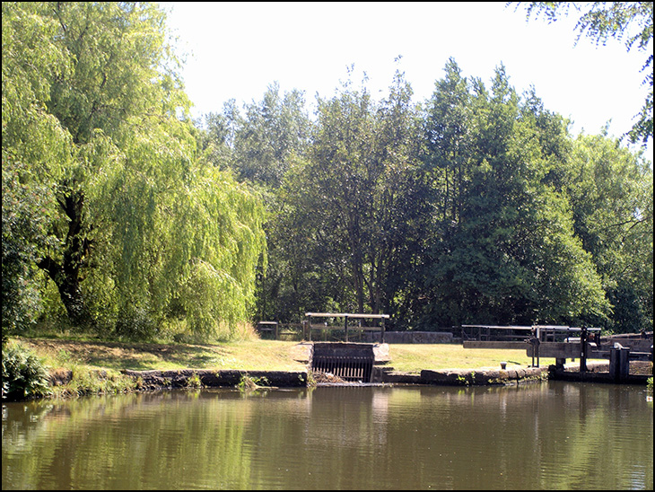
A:
[[[217,345],[148,344],[81,341],[57,338],[13,340],[28,347],[55,372],[72,371],[73,380],[53,389],[55,396],[131,391],[135,381],[122,369],[302,371],[305,353],[297,342],[251,338]],[[477,369],[527,366],[525,350],[465,349],[460,345],[389,345],[389,366],[404,373],[423,369]],[[541,359],[541,365],[553,364]]]

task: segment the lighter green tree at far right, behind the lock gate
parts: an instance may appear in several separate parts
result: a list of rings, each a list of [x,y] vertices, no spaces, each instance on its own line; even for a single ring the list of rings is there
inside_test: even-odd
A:
[[[575,141],[566,192],[613,305],[607,328],[652,327],[652,168],[607,136]]]

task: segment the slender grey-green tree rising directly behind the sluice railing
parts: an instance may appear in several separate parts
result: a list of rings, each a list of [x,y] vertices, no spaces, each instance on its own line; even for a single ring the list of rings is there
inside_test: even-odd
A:
[[[354,292],[349,311],[354,312],[364,309],[363,227],[371,217],[373,184],[382,171],[372,153],[371,105],[365,90],[345,89],[329,101],[319,101],[319,127],[306,170],[317,198],[312,213],[326,236],[323,241],[343,262],[344,277]]]

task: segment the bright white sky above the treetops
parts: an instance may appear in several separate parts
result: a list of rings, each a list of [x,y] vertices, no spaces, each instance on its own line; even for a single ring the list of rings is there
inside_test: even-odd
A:
[[[162,2],[186,62],[183,78],[198,118],[223,103],[261,101],[279,83],[281,95],[329,98],[348,79],[382,99],[397,70],[414,90],[432,95],[454,58],[462,75],[491,85],[503,65],[519,92],[534,86],[546,110],[571,119],[573,136],[623,136],[642,109],[644,52],[621,40],[596,46],[574,31],[578,16],[528,21],[522,5],[505,2]],[[652,49],[652,47],[651,47]],[[652,145],[648,155],[652,161]]]

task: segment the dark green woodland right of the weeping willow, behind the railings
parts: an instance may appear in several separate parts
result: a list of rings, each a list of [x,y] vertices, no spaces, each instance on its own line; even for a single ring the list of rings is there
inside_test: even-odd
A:
[[[235,169],[267,192],[258,318],[386,312],[401,329],[649,329],[651,165],[607,136],[573,138],[502,66],[489,86],[452,59],[444,73],[418,105],[400,73],[381,101],[348,81],[319,98],[309,143],[291,123],[297,104],[275,86],[246,118],[231,105],[210,115],[233,136],[223,151],[238,156]],[[282,114],[296,116],[271,120]],[[270,166],[275,178],[243,172],[255,135],[258,149],[296,135],[278,160],[250,154],[250,169]]]

